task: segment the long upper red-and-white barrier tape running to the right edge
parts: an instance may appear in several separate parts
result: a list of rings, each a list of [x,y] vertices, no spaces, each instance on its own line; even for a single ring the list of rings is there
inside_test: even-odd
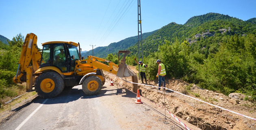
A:
[[[111,74],[107,74],[107,75],[111,75]],[[115,76],[115,75],[111,75],[111,76]],[[118,78],[119,78],[119,77],[118,77]],[[122,79],[122,78],[120,78],[120,79]],[[122,79],[122,80],[124,80],[124,79]],[[130,81],[127,81],[127,80],[124,80],[124,81],[130,82]],[[132,83],[132,84],[138,84],[138,85],[144,85],[144,84],[139,84],[139,83],[136,83],[136,82],[130,82],[130,83]],[[144,85],[144,86],[156,87],[156,86],[152,86],[152,85]],[[157,87],[157,88],[159,88],[159,87]],[[163,87],[160,87],[160,88],[163,88]],[[165,87],[164,87],[164,88],[165,88]],[[168,88],[165,88],[165,89],[168,89]],[[173,91],[173,90],[171,90],[171,89],[168,89],[168,90]],[[175,92],[175,93],[179,93],[179,92],[177,92],[177,91],[174,91],[174,92]],[[192,98],[192,99],[197,100],[197,101],[200,101],[200,102],[204,102],[204,101],[202,101],[202,100],[199,100],[199,99],[197,99],[197,98],[190,97],[190,96],[185,95],[185,94],[182,94],[182,93],[179,93],[179,94],[184,95],[184,96],[187,96],[187,97],[189,97],[189,98]],[[243,114],[240,114],[240,113],[236,113],[236,112],[234,112],[234,111],[230,111],[230,110],[228,110],[228,109],[225,109],[225,108],[222,108],[222,107],[220,107],[220,106],[216,106],[216,105],[210,104],[210,103],[208,103],[208,102],[204,102],[204,103],[209,104],[209,105],[211,105],[211,106],[215,106],[215,107],[217,107],[217,108],[221,108],[221,109],[226,110],[226,111],[228,111],[228,112],[231,112],[231,113],[234,113],[234,114],[237,114],[237,115],[240,115],[240,116],[243,116],[243,117],[246,117],[246,118],[249,118],[249,119],[252,119],[252,120],[256,121],[255,118],[248,117],[248,116],[246,116],[246,115],[243,115]]]

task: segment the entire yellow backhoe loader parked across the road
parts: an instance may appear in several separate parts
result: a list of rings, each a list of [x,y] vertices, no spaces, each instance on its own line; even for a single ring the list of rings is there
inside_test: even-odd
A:
[[[37,36],[27,34],[20,55],[17,74],[13,82],[26,82],[26,91],[35,91],[42,98],[53,98],[63,89],[82,85],[87,95],[100,92],[105,83],[102,70],[116,74],[118,77],[136,76],[127,67],[125,57],[129,51],[122,51],[124,58],[119,65],[95,56],[83,59],[80,44],[67,41],[50,41],[42,43],[43,49],[37,47]],[[99,61],[108,62],[108,65]]]

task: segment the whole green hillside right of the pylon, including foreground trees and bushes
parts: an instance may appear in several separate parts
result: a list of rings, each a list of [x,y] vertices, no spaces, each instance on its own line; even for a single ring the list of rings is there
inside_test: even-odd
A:
[[[172,22],[143,40],[150,79],[161,59],[167,77],[182,79],[228,95],[238,92],[256,101],[256,24],[228,15],[207,13],[184,25]],[[126,63],[136,65],[137,45]]]

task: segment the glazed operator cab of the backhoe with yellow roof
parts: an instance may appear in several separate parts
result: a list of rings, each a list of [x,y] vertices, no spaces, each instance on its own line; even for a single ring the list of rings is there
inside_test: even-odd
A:
[[[39,68],[54,66],[61,72],[74,72],[75,61],[79,59],[78,44],[65,41],[42,43],[43,50]]]

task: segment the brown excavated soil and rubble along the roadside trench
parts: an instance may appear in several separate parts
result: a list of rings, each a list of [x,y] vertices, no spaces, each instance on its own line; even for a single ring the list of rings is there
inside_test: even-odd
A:
[[[136,67],[129,67],[138,74]],[[109,74],[108,72],[104,73]],[[136,81],[136,79],[133,79],[135,76],[123,78],[129,82],[115,78],[115,76],[105,76],[108,79],[112,78],[113,82],[116,84],[118,83],[130,91],[135,91],[133,85],[129,83]],[[229,96],[226,96],[216,91],[199,88],[196,85],[189,85],[182,80],[165,78],[165,81],[166,88],[168,89],[254,119],[256,118],[256,106],[255,104],[246,101],[245,95],[231,93]],[[158,79],[148,81],[148,83],[153,86],[158,86]],[[138,88],[141,90],[141,96],[156,104],[164,106],[164,91],[162,89],[159,91],[156,87],[145,85],[138,85]],[[256,130],[255,120],[197,101],[179,93],[171,92],[169,90],[165,91],[165,105],[170,113],[186,120],[187,122],[183,122],[184,124],[190,123],[203,130]]]

